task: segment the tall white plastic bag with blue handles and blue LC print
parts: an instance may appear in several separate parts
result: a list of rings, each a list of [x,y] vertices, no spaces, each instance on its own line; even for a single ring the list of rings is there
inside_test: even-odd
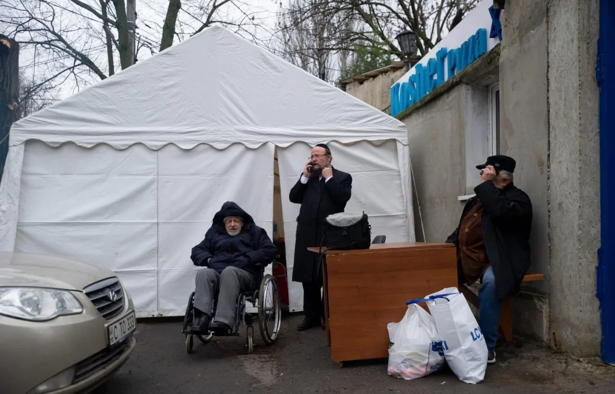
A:
[[[466,297],[456,287],[425,297],[442,339],[446,363],[466,383],[480,383],[487,368],[487,345]]]

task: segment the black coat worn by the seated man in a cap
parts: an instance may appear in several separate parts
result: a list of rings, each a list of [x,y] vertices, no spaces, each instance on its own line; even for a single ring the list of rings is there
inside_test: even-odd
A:
[[[530,269],[530,230],[532,226],[532,203],[530,197],[512,183],[503,190],[493,182],[483,182],[474,188],[475,197],[464,207],[459,226],[446,243],[459,247],[458,233],[461,221],[474,204],[480,200],[485,207],[482,217],[482,233],[487,257],[493,267],[496,288],[500,299],[518,294],[523,276]],[[463,277],[461,263],[458,272]],[[465,282],[465,279],[463,280]]]

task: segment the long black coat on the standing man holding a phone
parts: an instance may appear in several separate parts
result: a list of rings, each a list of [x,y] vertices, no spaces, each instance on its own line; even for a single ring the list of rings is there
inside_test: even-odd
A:
[[[301,183],[300,178],[290,190],[290,202],[301,204],[297,217],[293,281],[322,283],[318,255],[308,252],[307,248],[320,246],[323,222],[328,215],[344,212],[351,189],[352,176],[334,168],[333,177],[327,182],[311,178],[308,183]]]

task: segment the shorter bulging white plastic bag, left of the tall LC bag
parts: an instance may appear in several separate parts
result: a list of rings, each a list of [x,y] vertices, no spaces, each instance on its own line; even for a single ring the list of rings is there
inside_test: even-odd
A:
[[[389,369],[391,376],[410,380],[427,376],[444,365],[442,342],[434,319],[416,304],[389,330]]]

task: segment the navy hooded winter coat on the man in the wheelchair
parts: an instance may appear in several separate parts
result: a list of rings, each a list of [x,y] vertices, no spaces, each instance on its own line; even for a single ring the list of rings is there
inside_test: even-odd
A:
[[[224,228],[224,218],[228,216],[244,220],[241,232],[236,236],[228,235]],[[192,248],[190,258],[194,265],[209,267],[218,273],[232,266],[253,274],[255,267],[266,267],[271,263],[276,252],[276,246],[267,232],[254,224],[252,216],[236,203],[227,202],[214,215],[212,227],[205,233],[205,239]],[[210,257],[211,260],[207,262]]]

